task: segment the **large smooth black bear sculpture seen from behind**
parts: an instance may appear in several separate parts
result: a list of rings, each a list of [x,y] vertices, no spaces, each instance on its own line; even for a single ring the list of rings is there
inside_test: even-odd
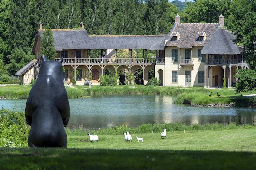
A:
[[[26,123],[31,125],[29,147],[67,147],[64,127],[69,121],[70,108],[63,84],[62,60],[47,61],[42,56],[40,72],[25,108]]]

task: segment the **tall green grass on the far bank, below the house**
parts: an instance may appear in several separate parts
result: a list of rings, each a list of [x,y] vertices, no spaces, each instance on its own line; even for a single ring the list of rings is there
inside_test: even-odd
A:
[[[252,102],[250,98],[244,98],[241,94],[235,94],[234,89],[204,89],[203,87],[160,87],[160,86],[74,86],[75,88],[66,87],[68,98],[83,98],[90,95],[178,95],[175,100],[177,104],[233,104],[236,107],[254,106],[256,101]],[[130,88],[135,87],[135,88]],[[0,86],[0,97],[7,99],[27,98],[31,86],[7,85]],[[212,96],[209,94],[212,92]],[[217,97],[216,93],[221,96]],[[243,93],[247,95],[253,92]]]

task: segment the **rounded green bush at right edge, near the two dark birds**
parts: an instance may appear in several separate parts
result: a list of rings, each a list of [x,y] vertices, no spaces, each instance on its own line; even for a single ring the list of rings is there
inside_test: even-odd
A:
[[[238,69],[235,78],[238,81],[235,84],[236,93],[251,92],[256,89],[256,71],[252,69]]]

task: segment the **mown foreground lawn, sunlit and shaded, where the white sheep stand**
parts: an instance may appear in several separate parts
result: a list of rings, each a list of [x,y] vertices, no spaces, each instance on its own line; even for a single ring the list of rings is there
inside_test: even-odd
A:
[[[255,129],[167,131],[124,136],[68,136],[68,148],[0,148],[4,170],[251,170],[256,164]],[[135,136],[143,137],[138,143]]]

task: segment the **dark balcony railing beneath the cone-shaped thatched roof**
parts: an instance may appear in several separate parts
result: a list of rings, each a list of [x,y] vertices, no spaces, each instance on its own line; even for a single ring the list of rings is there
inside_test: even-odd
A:
[[[245,59],[206,59],[205,64],[226,65],[226,64],[246,64]]]

